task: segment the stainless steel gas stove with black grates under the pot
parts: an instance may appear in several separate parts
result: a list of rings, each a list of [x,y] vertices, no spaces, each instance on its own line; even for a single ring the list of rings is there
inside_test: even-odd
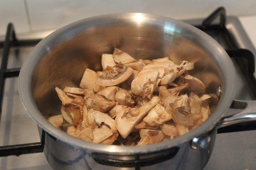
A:
[[[237,75],[235,99],[256,99],[256,50],[238,18],[226,17],[225,9],[221,7],[205,19],[184,22],[212,36],[232,58]],[[9,24],[6,36],[0,37],[0,156],[3,156],[0,158],[1,170],[52,169],[44,153],[41,153],[44,144],[40,142],[36,124],[26,114],[20,102],[17,88],[17,76],[24,59],[32,48],[52,31],[15,36],[14,26]],[[229,109],[226,116],[238,112],[239,110]],[[256,122],[218,129],[212,156],[204,170],[254,170],[255,129]],[[41,137],[44,138],[44,132]]]

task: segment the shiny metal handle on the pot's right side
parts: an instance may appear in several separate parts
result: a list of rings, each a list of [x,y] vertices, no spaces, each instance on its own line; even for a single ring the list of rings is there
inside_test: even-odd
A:
[[[241,123],[256,121],[256,100],[233,100],[233,103],[231,104],[230,108],[243,110],[240,113],[223,117],[218,122],[216,126],[217,129],[227,127],[230,125],[238,125]],[[256,126],[254,126],[254,129],[256,129]]]

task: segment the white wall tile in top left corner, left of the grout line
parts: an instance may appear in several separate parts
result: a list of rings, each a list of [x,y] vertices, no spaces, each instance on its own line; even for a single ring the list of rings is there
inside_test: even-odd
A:
[[[29,31],[23,0],[0,0],[0,34],[5,34],[9,22],[17,33]]]

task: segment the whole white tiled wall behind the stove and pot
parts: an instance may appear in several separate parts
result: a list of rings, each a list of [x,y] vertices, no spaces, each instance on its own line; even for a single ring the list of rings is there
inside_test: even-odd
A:
[[[0,34],[9,21],[15,23],[18,32],[28,32],[117,12],[145,12],[175,19],[206,17],[219,6],[232,15],[256,14],[256,0],[0,0]]]

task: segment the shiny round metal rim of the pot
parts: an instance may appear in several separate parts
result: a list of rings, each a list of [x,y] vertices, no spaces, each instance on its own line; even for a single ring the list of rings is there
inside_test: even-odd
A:
[[[95,144],[92,142],[86,142],[81,139],[74,138],[73,136],[68,135],[64,131],[61,131],[54,126],[52,126],[47,119],[41,114],[38,110],[35,101],[32,96],[32,77],[33,71],[41,60],[41,57],[50,50],[50,48],[58,43],[56,40],[64,40],[68,37],[73,37],[76,31],[79,34],[81,31],[86,28],[86,23],[95,23],[103,19],[113,19],[113,20],[130,20],[136,15],[143,16],[146,20],[149,20],[153,24],[157,24],[157,20],[161,20],[168,23],[174,23],[179,27],[186,28],[191,31],[192,34],[202,39],[204,43],[207,43],[212,50],[214,50],[214,56],[212,59],[216,62],[218,67],[223,74],[221,79],[223,81],[222,95],[221,99],[215,108],[215,111],[209,116],[206,122],[204,122],[199,127],[194,130],[186,133],[183,136],[179,136],[175,139],[160,142],[157,144],[151,144],[147,146],[117,146],[117,145],[104,145],[104,144]],[[72,31],[72,32],[71,32]],[[73,33],[73,34],[72,34]],[[58,38],[56,38],[58,37]],[[49,34],[43,40],[41,40],[35,48],[30,52],[26,61],[23,63],[20,70],[18,88],[20,94],[20,100],[29,116],[37,123],[39,127],[44,129],[47,133],[54,136],[55,138],[66,142],[68,144],[75,145],[76,147],[83,148],[87,152],[100,152],[116,155],[133,155],[139,153],[152,153],[154,151],[166,150],[173,146],[182,144],[183,142],[188,142],[194,137],[200,136],[201,134],[208,133],[210,130],[215,128],[218,121],[222,118],[224,113],[227,111],[231,102],[233,101],[234,91],[235,91],[235,82],[236,82],[236,73],[233,66],[233,62],[226,53],[226,51],[221,47],[218,42],[216,42],[212,37],[204,33],[203,31],[191,26],[187,23],[183,23],[178,20],[174,20],[168,17],[162,17],[153,14],[145,13],[118,13],[118,14],[104,14],[96,17],[89,17],[83,20],[79,20],[75,23],[71,23],[67,26],[64,26],[53,33]]]

